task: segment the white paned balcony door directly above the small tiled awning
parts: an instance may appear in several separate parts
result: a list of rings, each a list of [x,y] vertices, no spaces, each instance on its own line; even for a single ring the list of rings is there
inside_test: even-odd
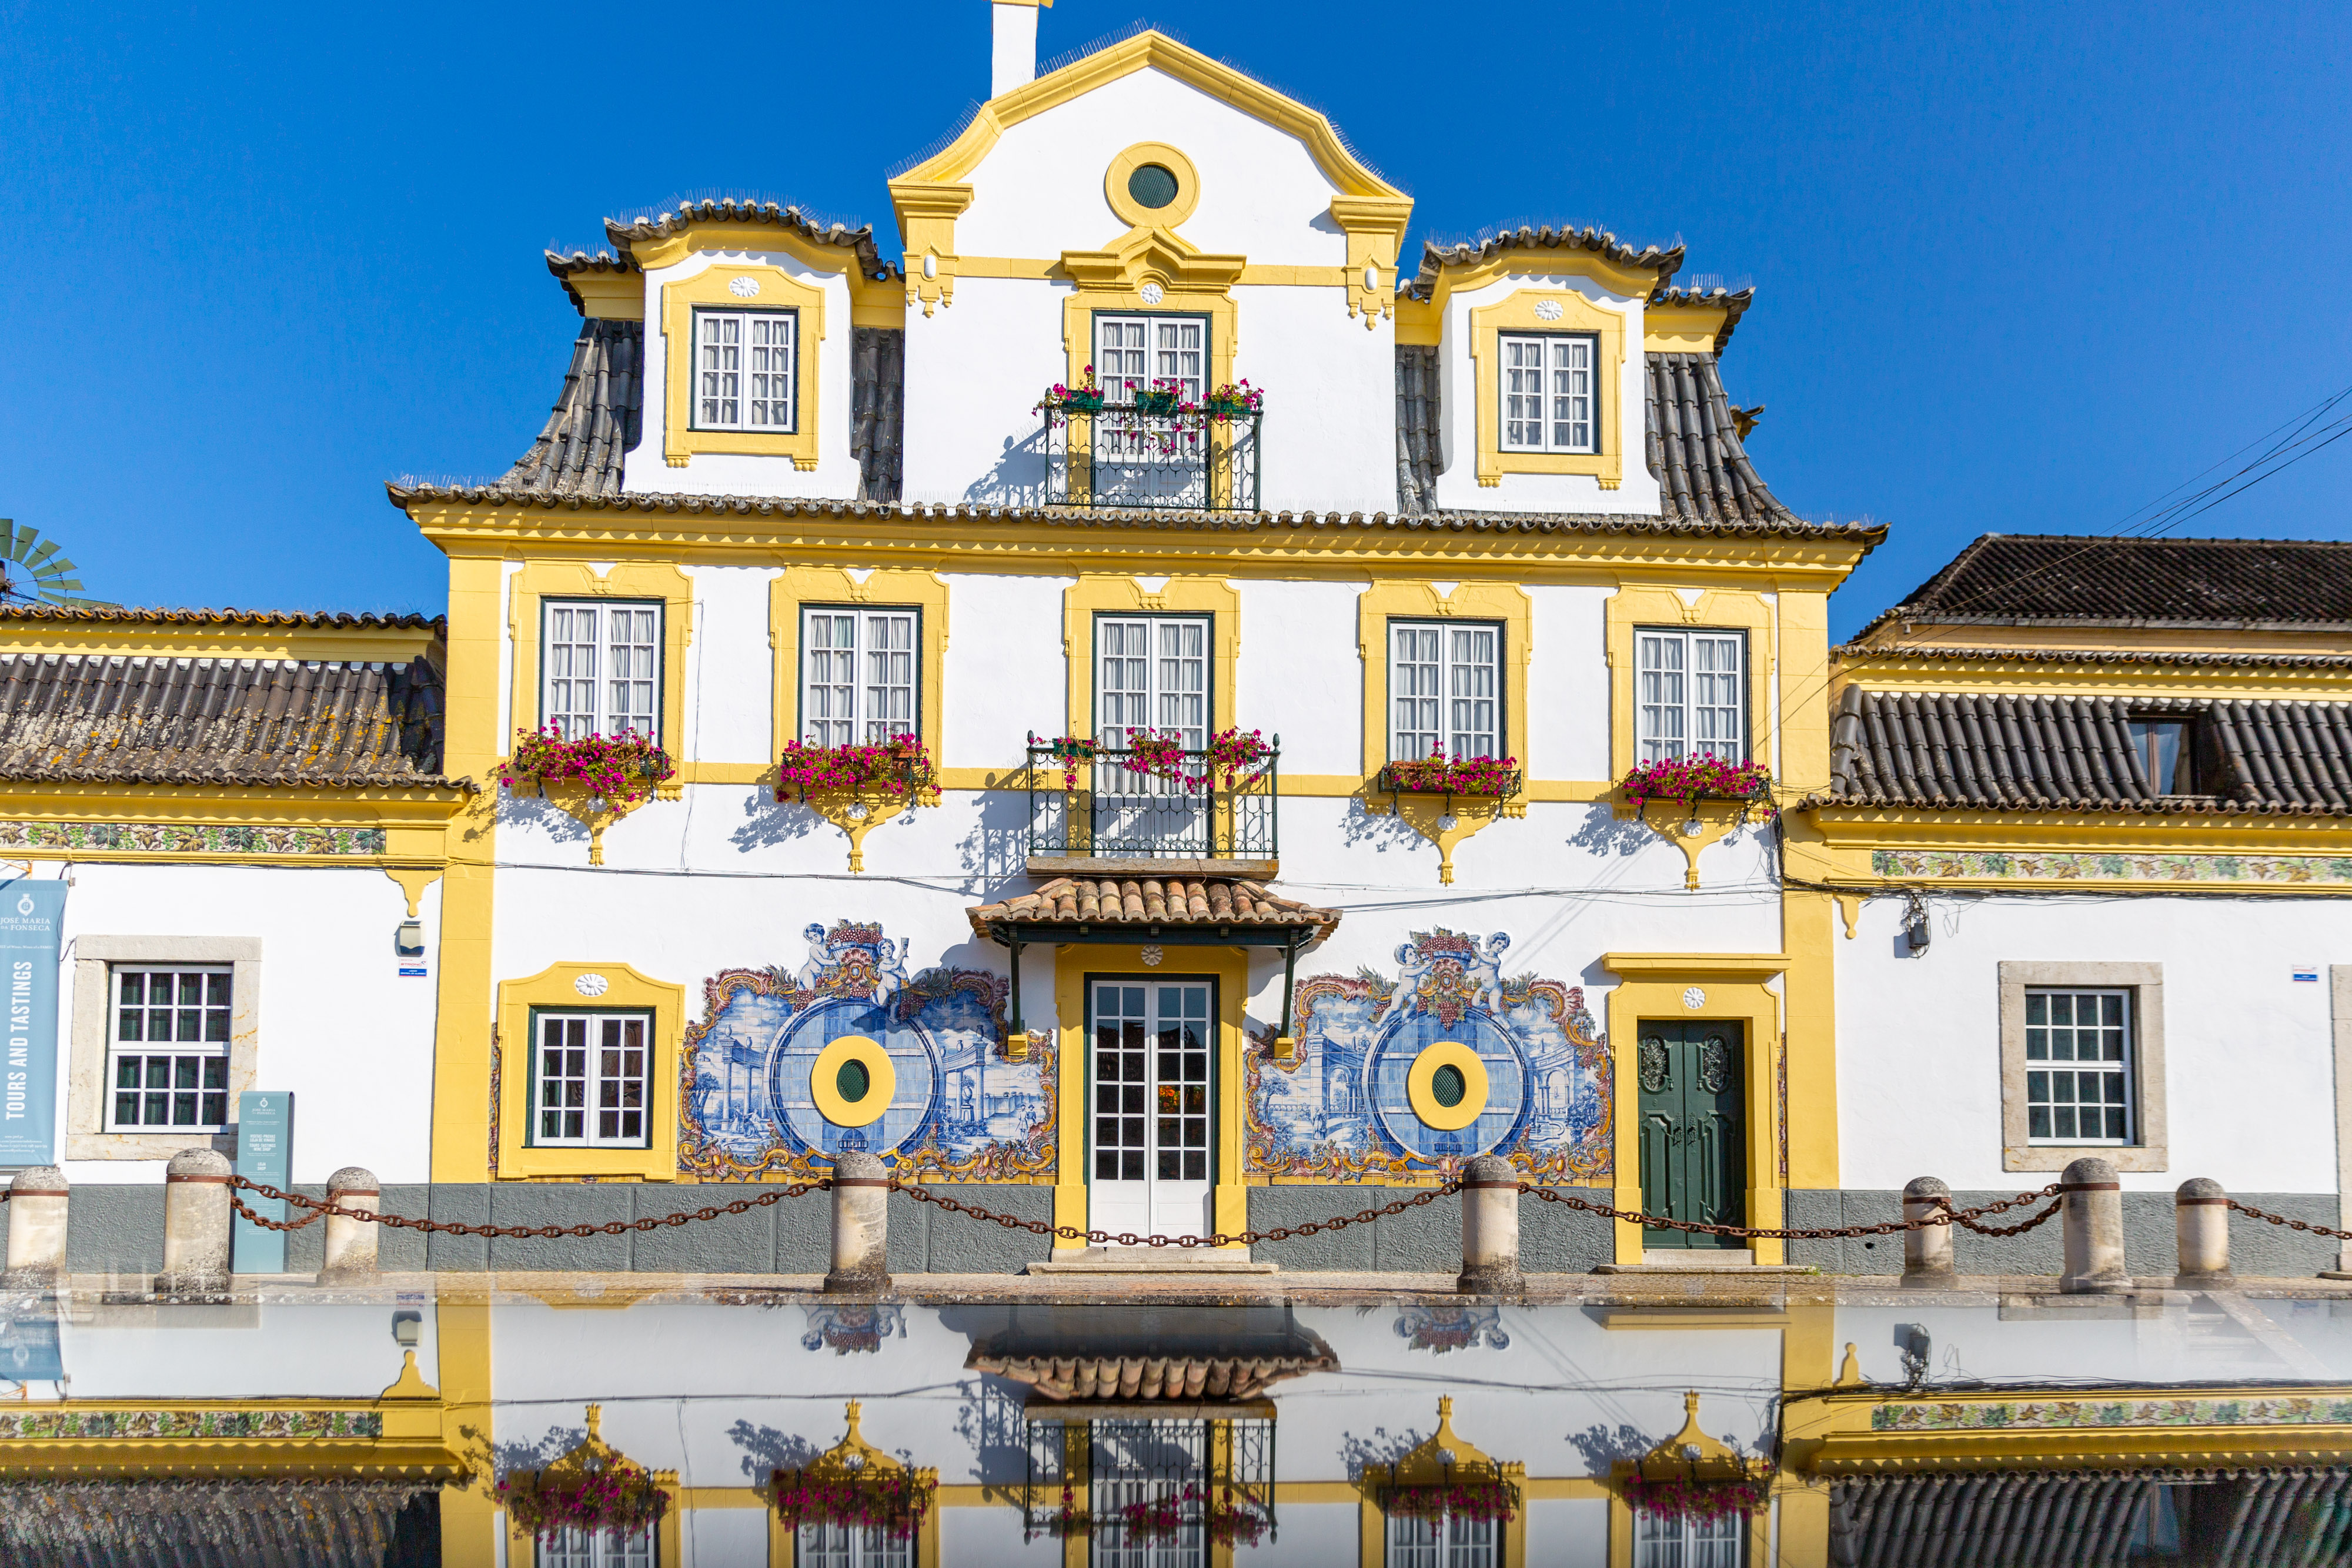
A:
[[[1094,623],[1094,738],[1124,750],[1134,731],[1209,745],[1209,623],[1192,616],[1103,616]],[[1188,771],[1204,773],[1200,759]],[[1209,853],[1209,792],[1136,773],[1120,759],[1094,764],[1096,853]]]

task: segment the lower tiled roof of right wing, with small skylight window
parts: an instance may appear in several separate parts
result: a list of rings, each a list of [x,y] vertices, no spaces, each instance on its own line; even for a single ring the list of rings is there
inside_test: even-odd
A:
[[[2206,795],[2152,790],[2131,719],[2192,719]],[[2352,816],[2352,703],[1863,691],[1804,804],[1929,811]]]

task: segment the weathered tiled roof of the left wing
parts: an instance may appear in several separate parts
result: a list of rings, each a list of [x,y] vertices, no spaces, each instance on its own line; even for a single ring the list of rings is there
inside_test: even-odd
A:
[[[447,788],[440,757],[430,658],[0,654],[12,783]]]

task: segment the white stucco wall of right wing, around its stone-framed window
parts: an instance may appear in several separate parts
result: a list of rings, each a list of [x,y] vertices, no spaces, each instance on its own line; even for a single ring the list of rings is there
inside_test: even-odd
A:
[[[1962,1190],[2056,1180],[2002,1171],[1999,964],[2161,964],[2166,1171],[2126,1190],[2211,1175],[2232,1192],[2336,1190],[2336,1077],[2326,964],[2352,910],[2324,898],[1931,898],[1933,940],[1907,957],[1903,900],[1863,907],[1832,940],[1844,1187],[1940,1175]],[[2296,966],[2317,983],[2296,983]]]

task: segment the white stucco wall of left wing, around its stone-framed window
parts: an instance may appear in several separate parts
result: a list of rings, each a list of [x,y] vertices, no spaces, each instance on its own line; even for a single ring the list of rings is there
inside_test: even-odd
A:
[[[372,865],[75,865],[59,990],[61,1147],[71,1128],[73,943],[249,936],[261,940],[254,1088],[294,1095],[294,1180],[322,1182],[341,1166],[367,1166],[386,1182],[426,1180],[440,893],[435,882],[419,903],[426,976],[402,978],[393,933],[407,919],[407,896]],[[66,1180],[160,1182],[162,1166],[162,1159],[68,1159]]]

